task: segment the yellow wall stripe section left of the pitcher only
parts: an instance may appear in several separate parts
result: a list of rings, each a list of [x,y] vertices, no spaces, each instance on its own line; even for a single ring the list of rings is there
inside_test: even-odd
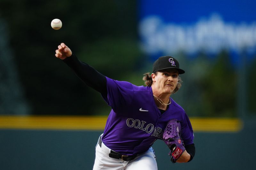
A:
[[[0,116],[0,128],[102,130],[106,121],[106,116]]]

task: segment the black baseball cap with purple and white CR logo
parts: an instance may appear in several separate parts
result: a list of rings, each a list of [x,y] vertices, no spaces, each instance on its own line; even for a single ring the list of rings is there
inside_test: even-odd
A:
[[[153,64],[153,73],[164,69],[177,69],[179,74],[184,74],[185,71],[180,69],[178,60],[172,56],[159,57]]]

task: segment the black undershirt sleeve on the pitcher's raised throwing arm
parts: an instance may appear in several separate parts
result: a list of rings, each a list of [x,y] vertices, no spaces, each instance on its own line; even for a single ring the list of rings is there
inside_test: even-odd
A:
[[[104,98],[107,97],[107,79],[104,75],[90,65],[79,61],[74,54],[64,59],[63,62],[66,63],[86,85],[100,92]]]

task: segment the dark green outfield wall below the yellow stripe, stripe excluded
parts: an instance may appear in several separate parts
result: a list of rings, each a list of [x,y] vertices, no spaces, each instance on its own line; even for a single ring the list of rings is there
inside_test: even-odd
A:
[[[195,132],[196,157],[172,164],[168,148],[156,141],[153,148],[159,170],[253,169],[255,122],[244,121],[239,133]],[[1,170],[92,169],[94,147],[102,131],[0,130]]]

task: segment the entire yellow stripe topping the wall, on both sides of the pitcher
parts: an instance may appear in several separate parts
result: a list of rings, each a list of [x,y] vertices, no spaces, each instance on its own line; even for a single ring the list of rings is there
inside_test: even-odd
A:
[[[103,130],[107,116],[0,116],[0,129]],[[238,132],[240,119],[190,118],[194,132]]]

